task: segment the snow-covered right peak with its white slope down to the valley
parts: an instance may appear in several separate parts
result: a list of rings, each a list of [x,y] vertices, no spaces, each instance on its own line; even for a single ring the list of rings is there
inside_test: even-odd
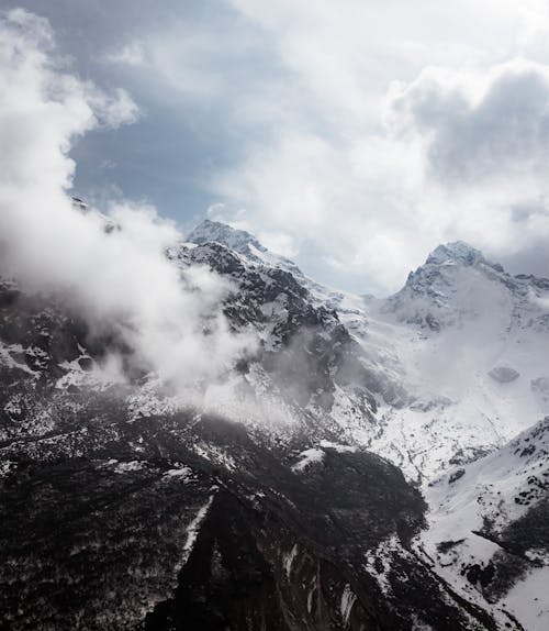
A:
[[[430,478],[549,413],[549,281],[512,277],[462,243],[439,246],[371,303],[362,337],[392,348],[414,399],[382,409],[369,445]]]

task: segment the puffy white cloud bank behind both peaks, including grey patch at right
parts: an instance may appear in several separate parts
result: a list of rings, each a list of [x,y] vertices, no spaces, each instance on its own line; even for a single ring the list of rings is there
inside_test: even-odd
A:
[[[248,229],[285,234],[305,269],[361,292],[396,290],[455,240],[533,269],[525,253],[549,237],[548,106],[539,63],[426,68],[389,86],[377,126],[355,107],[339,129],[287,122],[214,186],[247,210]]]

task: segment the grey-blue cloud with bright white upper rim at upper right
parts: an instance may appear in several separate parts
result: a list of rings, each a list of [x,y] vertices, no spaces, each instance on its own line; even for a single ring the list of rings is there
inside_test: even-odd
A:
[[[475,74],[426,69],[394,89],[395,125],[425,136],[433,175],[469,185],[540,175],[549,157],[549,66],[515,59]]]

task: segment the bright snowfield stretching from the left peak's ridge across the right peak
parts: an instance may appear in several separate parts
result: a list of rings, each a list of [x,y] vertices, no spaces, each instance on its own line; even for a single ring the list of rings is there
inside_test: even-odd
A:
[[[205,221],[188,241],[201,244],[192,251],[194,261],[215,265],[212,256],[221,254],[206,250],[221,244],[246,269],[231,276],[291,275],[306,303],[337,313],[361,346],[358,388],[335,384],[330,408],[309,412],[340,442],[368,446],[412,479],[430,479],[455,462],[496,449],[549,413],[548,280],[512,277],[458,242],[437,247],[396,295],[365,300],[323,287],[249,233],[225,224]],[[249,300],[249,291],[243,299]],[[282,291],[260,309],[271,322],[265,339],[272,344],[291,308]],[[277,407],[268,376],[253,370],[249,379]],[[368,419],[365,385],[377,400]],[[291,421],[295,410],[287,412]]]

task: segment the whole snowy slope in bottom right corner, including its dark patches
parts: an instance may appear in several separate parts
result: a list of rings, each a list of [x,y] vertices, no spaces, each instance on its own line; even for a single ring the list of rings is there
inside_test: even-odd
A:
[[[469,598],[505,608],[525,629],[549,627],[549,418],[425,489],[418,547]]]

